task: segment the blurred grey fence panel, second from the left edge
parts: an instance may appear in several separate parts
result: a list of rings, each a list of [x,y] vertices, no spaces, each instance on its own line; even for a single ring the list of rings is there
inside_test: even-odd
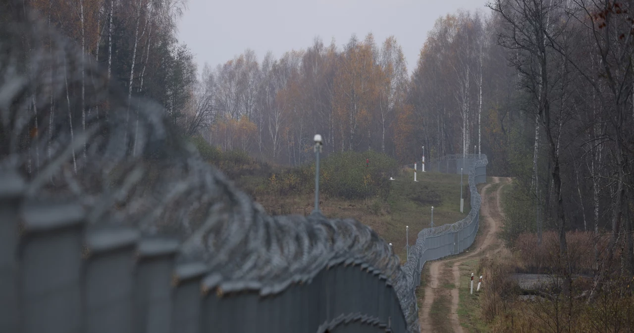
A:
[[[23,333],[81,332],[84,214],[74,203],[22,206],[17,289]]]

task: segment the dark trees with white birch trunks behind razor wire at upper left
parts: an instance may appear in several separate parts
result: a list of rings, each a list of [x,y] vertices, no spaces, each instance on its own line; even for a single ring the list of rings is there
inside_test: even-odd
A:
[[[26,0],[25,4],[49,27],[75,40],[87,54],[86,61],[107,71],[108,80],[123,87],[128,99],[141,96],[159,102],[187,135],[209,124],[207,106],[196,104],[204,100],[197,98],[193,54],[176,38],[187,0]],[[86,81],[82,87],[67,88],[70,99],[81,99],[84,105],[72,112],[108,118],[108,107],[84,100],[84,92],[93,84]],[[134,110],[132,114],[130,123],[135,120]]]

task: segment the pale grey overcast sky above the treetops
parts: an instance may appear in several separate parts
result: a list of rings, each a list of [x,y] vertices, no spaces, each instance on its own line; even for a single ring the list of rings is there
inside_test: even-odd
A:
[[[195,54],[198,70],[214,68],[250,48],[261,61],[291,49],[306,49],[320,36],[339,48],[356,33],[374,34],[377,45],[394,35],[413,71],[418,54],[439,16],[458,9],[488,10],[486,0],[189,0],[179,40]]]

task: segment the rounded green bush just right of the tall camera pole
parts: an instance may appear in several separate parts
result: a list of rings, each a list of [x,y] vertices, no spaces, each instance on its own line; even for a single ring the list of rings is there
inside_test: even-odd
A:
[[[370,159],[368,167],[366,159]],[[372,150],[335,153],[323,160],[320,186],[324,193],[346,199],[387,197],[388,175],[396,169],[396,160]]]

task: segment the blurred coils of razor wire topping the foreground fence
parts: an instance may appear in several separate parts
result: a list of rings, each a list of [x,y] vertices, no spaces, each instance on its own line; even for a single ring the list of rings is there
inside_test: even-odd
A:
[[[0,21],[0,169],[27,179],[27,197],[79,202],[91,226],[181,239],[178,261],[204,260],[223,287],[278,293],[356,260],[406,288],[398,257],[372,229],[266,214],[200,158],[159,104],[130,99],[72,40],[20,12]],[[414,299],[399,303],[416,313]],[[408,330],[419,331],[417,317]]]

